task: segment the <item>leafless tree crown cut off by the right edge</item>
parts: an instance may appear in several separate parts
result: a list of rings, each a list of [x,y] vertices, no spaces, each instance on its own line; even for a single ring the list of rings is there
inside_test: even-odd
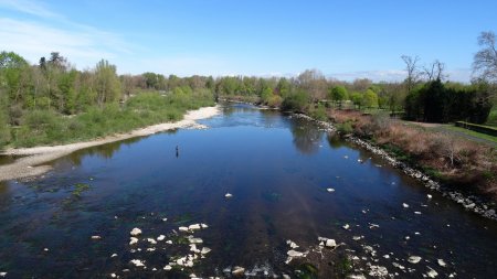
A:
[[[490,83],[497,83],[497,50],[494,32],[482,32],[478,45],[484,49],[477,52],[473,61],[473,74]]]

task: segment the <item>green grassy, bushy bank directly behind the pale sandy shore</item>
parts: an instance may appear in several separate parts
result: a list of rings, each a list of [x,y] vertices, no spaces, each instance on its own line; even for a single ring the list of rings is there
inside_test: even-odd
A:
[[[4,147],[34,147],[91,140],[137,128],[182,119],[184,112],[213,106],[210,92],[191,94],[141,93],[124,104],[89,107],[85,112],[64,116],[54,110],[31,110],[21,125],[11,127]],[[1,147],[0,147],[1,148]]]

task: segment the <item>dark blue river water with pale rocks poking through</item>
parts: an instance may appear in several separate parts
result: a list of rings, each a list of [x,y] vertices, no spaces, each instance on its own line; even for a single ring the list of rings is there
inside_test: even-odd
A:
[[[285,242],[306,249],[324,236],[399,278],[420,278],[429,267],[438,278],[454,272],[497,278],[495,222],[431,193],[371,153],[306,120],[247,106],[226,107],[202,122],[211,128],[82,150],[54,162],[55,170],[42,179],[0,184],[0,272],[8,278],[186,278],[223,276],[226,267],[243,266],[293,275],[284,262]],[[232,198],[224,197],[228,192]],[[194,223],[209,225],[193,235],[203,239],[200,248],[212,251],[193,268],[162,270],[192,254],[181,233],[170,233]],[[130,246],[134,227],[144,233]],[[96,235],[102,239],[91,238]],[[173,244],[144,242],[159,235]],[[366,245],[377,255],[367,255]],[[151,247],[156,250],[146,250]],[[409,264],[412,255],[421,262]],[[145,260],[147,269],[131,259]],[[413,270],[404,272],[393,262]]]

